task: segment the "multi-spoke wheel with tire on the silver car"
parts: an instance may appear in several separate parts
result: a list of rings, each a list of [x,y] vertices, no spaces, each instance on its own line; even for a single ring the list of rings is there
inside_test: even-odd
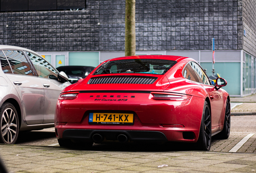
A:
[[[14,144],[19,134],[19,118],[15,107],[11,103],[4,103],[0,107],[0,143]]]

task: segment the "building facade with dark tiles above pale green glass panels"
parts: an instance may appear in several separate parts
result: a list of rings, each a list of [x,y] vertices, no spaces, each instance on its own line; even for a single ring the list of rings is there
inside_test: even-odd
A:
[[[39,11],[4,8],[2,1],[0,44],[39,52],[56,67],[96,67],[124,56],[125,0],[53,0],[54,8]],[[255,11],[255,0],[136,0],[136,54],[188,56],[211,75],[215,38],[223,89],[231,96],[256,93]]]

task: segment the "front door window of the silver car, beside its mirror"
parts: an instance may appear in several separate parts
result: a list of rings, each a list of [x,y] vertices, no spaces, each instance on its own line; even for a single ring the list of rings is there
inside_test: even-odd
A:
[[[46,62],[43,58],[37,56],[36,54],[27,52],[27,55],[34,64],[39,77],[58,80],[56,70],[54,70],[54,68],[48,62]]]

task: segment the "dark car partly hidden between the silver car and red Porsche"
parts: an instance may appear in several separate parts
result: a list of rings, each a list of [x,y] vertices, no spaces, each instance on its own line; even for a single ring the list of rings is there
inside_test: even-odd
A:
[[[56,69],[65,72],[68,75],[68,81],[73,84],[88,76],[94,68],[92,66],[60,66]]]

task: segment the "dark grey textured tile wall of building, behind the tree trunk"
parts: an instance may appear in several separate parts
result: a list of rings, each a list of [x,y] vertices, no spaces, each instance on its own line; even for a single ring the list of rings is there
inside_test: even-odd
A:
[[[0,44],[35,51],[124,50],[125,0],[87,0],[86,6],[0,13]],[[212,37],[217,50],[242,49],[242,10],[238,0],[136,0],[136,50],[211,50]]]

